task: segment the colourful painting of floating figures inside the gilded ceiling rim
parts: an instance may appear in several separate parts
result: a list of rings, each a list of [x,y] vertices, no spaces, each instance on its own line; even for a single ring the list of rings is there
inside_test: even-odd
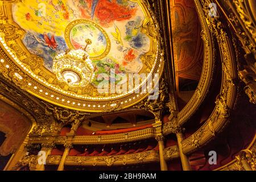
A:
[[[150,51],[150,37],[144,34],[145,19],[137,1],[127,0],[24,0],[13,5],[13,18],[26,31],[23,43],[42,57],[52,71],[53,58],[66,49],[85,46],[89,38],[90,58],[100,73],[139,73],[142,55]]]

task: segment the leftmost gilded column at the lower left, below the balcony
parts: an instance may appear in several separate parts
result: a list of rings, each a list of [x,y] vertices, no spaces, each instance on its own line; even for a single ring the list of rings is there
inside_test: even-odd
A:
[[[42,143],[42,148],[38,160],[42,163],[36,165],[36,171],[44,171],[44,165],[46,164],[47,156],[51,154],[52,149],[55,147],[54,143]]]

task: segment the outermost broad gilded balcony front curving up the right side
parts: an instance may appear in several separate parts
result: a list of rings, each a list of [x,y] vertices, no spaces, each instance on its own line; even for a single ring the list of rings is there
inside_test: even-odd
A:
[[[230,120],[230,111],[233,109],[237,97],[237,86],[234,80],[237,79],[236,64],[230,39],[225,32],[224,24],[219,17],[208,16],[208,5],[210,1],[195,1],[197,9],[205,12],[205,17],[210,31],[216,36],[221,53],[222,61],[222,86],[221,92],[216,98],[216,107],[212,115],[208,118],[199,130],[191,137],[183,140],[182,150],[184,154],[190,154],[192,151],[203,146],[212,140],[215,135],[224,129],[224,126]],[[203,9],[202,9],[203,8]]]

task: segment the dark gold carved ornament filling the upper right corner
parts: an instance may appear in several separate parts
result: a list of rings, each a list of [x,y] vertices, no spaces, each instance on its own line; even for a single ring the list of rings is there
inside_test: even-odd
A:
[[[244,53],[238,53],[238,76],[245,82],[244,91],[252,104],[256,104],[256,2],[254,0],[233,0],[214,2],[221,7],[220,11],[224,14],[233,34],[237,36],[234,41],[234,48],[238,50],[241,46]],[[238,51],[239,52],[239,51]],[[253,77],[253,79],[251,79]]]

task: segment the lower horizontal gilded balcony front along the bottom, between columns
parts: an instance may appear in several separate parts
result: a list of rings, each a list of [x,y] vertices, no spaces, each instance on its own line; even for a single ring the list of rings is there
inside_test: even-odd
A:
[[[58,165],[61,156],[49,155],[48,165]],[[67,156],[65,166],[126,166],[131,164],[159,163],[158,151],[151,150],[137,154],[112,156]]]

